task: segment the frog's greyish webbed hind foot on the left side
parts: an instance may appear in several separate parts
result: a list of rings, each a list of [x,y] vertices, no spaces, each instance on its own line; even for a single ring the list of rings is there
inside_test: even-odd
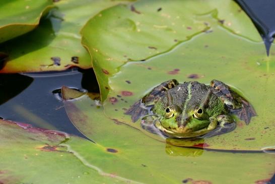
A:
[[[145,106],[142,100],[135,102],[124,114],[131,115],[132,122],[137,121],[140,117],[143,117],[150,113],[152,105]]]

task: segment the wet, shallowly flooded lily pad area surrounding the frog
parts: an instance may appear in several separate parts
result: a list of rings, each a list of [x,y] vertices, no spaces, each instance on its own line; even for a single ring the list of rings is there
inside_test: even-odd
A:
[[[172,78],[180,82],[196,80],[205,84],[218,79],[238,89],[254,106],[257,116],[252,117],[249,125],[238,121],[235,131],[209,138],[204,142],[215,145],[217,149],[234,150],[262,150],[267,146],[274,146],[274,119],[267,115],[272,111],[270,104],[275,104],[272,93],[269,92],[275,90],[272,85],[275,82],[273,50],[271,56],[267,57],[263,44],[232,37],[231,33],[218,27],[213,30],[213,33],[201,34],[171,52],[147,62],[130,63],[121,67],[120,73],[109,79],[113,90],[104,102],[106,115],[141,129],[140,121],[132,122],[130,116],[124,114],[124,110],[154,86]],[[240,52],[241,49],[246,53]],[[226,54],[227,52],[230,55]],[[169,60],[173,60],[173,65]],[[171,72],[175,69],[177,72]],[[132,71],[142,75],[133,76]],[[193,79],[194,76],[196,79]],[[126,80],[130,81],[130,84],[127,84]],[[113,98],[117,99],[116,103],[113,103]],[[196,143],[184,139],[168,141],[178,146]]]

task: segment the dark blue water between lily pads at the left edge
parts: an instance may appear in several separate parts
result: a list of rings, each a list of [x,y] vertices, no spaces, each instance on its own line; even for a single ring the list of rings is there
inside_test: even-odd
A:
[[[99,92],[92,70],[0,74],[0,117],[83,137],[66,115],[62,86]]]

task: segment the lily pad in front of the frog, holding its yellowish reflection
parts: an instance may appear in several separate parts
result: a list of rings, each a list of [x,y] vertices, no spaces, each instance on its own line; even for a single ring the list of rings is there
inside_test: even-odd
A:
[[[66,99],[71,99],[64,101],[68,116],[100,148],[95,151],[88,143],[68,142],[70,149],[105,172],[143,183],[254,183],[273,174],[272,154],[215,152],[165,144],[107,118],[102,106],[88,94],[70,91],[62,89]],[[213,174],[213,170],[219,170],[219,174]]]

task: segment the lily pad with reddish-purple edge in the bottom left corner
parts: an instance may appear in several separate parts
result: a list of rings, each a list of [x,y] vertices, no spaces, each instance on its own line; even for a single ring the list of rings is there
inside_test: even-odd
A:
[[[0,120],[1,183],[128,183],[85,164],[70,149],[69,142],[90,146],[96,144],[31,125]],[[61,143],[67,145],[62,145]],[[85,149],[84,147],[82,149]],[[124,179],[124,180],[123,180]]]

